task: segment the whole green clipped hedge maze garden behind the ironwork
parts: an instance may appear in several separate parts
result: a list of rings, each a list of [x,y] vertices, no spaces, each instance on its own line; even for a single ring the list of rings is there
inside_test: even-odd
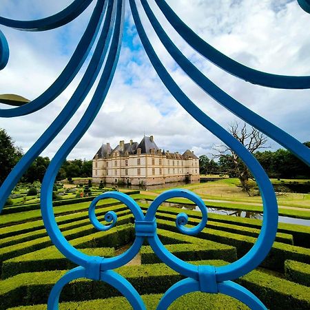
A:
[[[98,219],[103,221],[107,211],[115,211],[118,216],[116,227],[104,232],[90,224],[89,205],[89,201],[79,201],[54,207],[63,235],[85,254],[118,255],[134,240],[130,210],[116,200],[102,200],[96,207]],[[141,207],[145,211],[148,205]],[[188,225],[197,225],[200,212],[186,212]],[[178,213],[180,209],[174,207],[158,209],[158,236],[175,256],[196,265],[234,262],[249,251],[260,231],[260,220],[209,214],[207,226],[198,236],[185,236],[175,225]],[[52,245],[37,207],[6,211],[0,216],[0,236],[0,309],[46,309],[50,289],[75,265]],[[309,237],[310,227],[280,224],[269,256],[236,282],[255,293],[269,309],[310,309]],[[162,264],[146,242],[134,262],[116,271],[143,296],[147,309],[156,309],[162,294],[183,278]],[[131,309],[125,298],[104,282],[75,280],[61,293],[60,309],[101,308]],[[176,300],[171,309],[248,308],[220,294],[191,293]]]

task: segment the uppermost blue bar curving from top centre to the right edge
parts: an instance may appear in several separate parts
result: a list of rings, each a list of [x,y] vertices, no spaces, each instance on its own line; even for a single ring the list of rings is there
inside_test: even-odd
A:
[[[172,27],[189,45],[192,46],[192,48],[194,48],[194,50],[229,74],[232,74],[239,79],[261,86],[285,88],[288,90],[310,88],[310,76],[285,76],[271,74],[249,68],[246,65],[242,65],[241,63],[234,61],[201,39],[198,34],[190,29],[178,17],[178,15],[176,15],[176,13],[168,6],[165,0],[155,1]]]

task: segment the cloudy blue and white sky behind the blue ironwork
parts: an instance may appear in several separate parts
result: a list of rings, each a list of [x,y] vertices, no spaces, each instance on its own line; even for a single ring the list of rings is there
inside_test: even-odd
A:
[[[37,19],[54,14],[69,0],[1,0],[0,15],[14,19]],[[139,1],[136,1],[137,3]],[[310,75],[310,15],[293,0],[169,0],[167,1],[196,33],[232,59],[251,68],[275,74]],[[241,81],[202,56],[181,39],[149,0],[156,16],[174,43],[205,75],[242,104],[304,142],[309,141],[310,91],[271,90]],[[220,143],[198,124],[167,92],[147,59],[126,3],[121,56],[107,99],[85,136],[69,158],[90,159],[102,143],[116,146],[120,140],[141,141],[154,135],[162,149],[199,156]],[[0,72],[0,94],[19,94],[30,100],[46,90],[65,68],[76,48],[94,5],[81,16],[56,30],[20,32],[0,27],[10,46],[10,60]],[[200,109],[227,128],[237,118],[196,86],[165,51],[141,12],[145,29],[169,73]],[[16,145],[26,152],[70,99],[85,71],[67,90],[42,110],[19,118],[1,118]],[[90,102],[93,92],[43,156],[52,157],[65,141]],[[1,105],[1,108],[8,106]],[[269,141],[271,148],[278,145]]]

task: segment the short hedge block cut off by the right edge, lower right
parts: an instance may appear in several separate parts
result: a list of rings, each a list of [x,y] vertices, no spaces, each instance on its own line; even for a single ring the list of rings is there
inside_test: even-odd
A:
[[[310,287],[309,264],[296,262],[295,260],[285,260],[285,276],[288,280]]]

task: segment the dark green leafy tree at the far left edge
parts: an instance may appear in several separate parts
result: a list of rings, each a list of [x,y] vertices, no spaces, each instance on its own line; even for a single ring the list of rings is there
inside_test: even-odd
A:
[[[6,130],[0,129],[0,185],[22,155],[21,149],[14,145]]]

